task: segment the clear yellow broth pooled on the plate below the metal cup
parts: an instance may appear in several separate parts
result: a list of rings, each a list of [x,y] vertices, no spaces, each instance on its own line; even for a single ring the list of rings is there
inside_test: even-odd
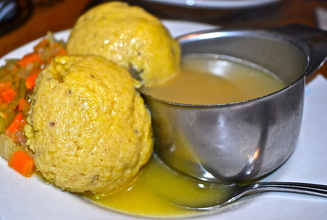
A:
[[[125,214],[162,218],[205,214],[206,211],[186,207],[215,204],[228,197],[232,190],[233,185],[185,177],[154,156],[131,186],[86,198]]]

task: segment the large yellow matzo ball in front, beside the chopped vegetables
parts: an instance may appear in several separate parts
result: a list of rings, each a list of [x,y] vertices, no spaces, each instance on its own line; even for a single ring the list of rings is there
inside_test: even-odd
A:
[[[152,152],[137,85],[103,57],[56,57],[37,78],[24,128],[43,176],[63,190],[94,194],[135,177]]]

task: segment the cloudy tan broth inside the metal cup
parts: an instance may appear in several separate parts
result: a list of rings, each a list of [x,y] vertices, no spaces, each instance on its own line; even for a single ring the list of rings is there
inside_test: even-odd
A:
[[[215,105],[255,99],[286,84],[258,65],[227,56],[190,55],[177,76],[142,92],[168,102]]]

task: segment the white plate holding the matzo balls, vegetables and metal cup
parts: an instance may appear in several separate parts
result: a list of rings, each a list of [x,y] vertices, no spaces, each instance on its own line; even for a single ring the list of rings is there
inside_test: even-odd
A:
[[[174,36],[213,28],[200,23],[164,21]],[[67,39],[69,31],[56,34]],[[0,59],[21,58],[33,41]],[[306,87],[305,109],[298,146],[290,159],[264,181],[327,184],[327,80],[318,76]],[[269,192],[246,200],[240,207],[193,219],[325,219],[327,199],[310,195]],[[36,176],[25,178],[0,159],[0,220],[141,219],[101,209],[68,192],[44,184]],[[145,218],[147,219],[147,218]]]

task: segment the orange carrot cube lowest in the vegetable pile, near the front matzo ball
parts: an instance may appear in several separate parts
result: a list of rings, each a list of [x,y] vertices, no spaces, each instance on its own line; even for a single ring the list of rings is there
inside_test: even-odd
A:
[[[8,162],[9,166],[25,177],[30,177],[34,169],[34,160],[24,151],[15,151]]]

